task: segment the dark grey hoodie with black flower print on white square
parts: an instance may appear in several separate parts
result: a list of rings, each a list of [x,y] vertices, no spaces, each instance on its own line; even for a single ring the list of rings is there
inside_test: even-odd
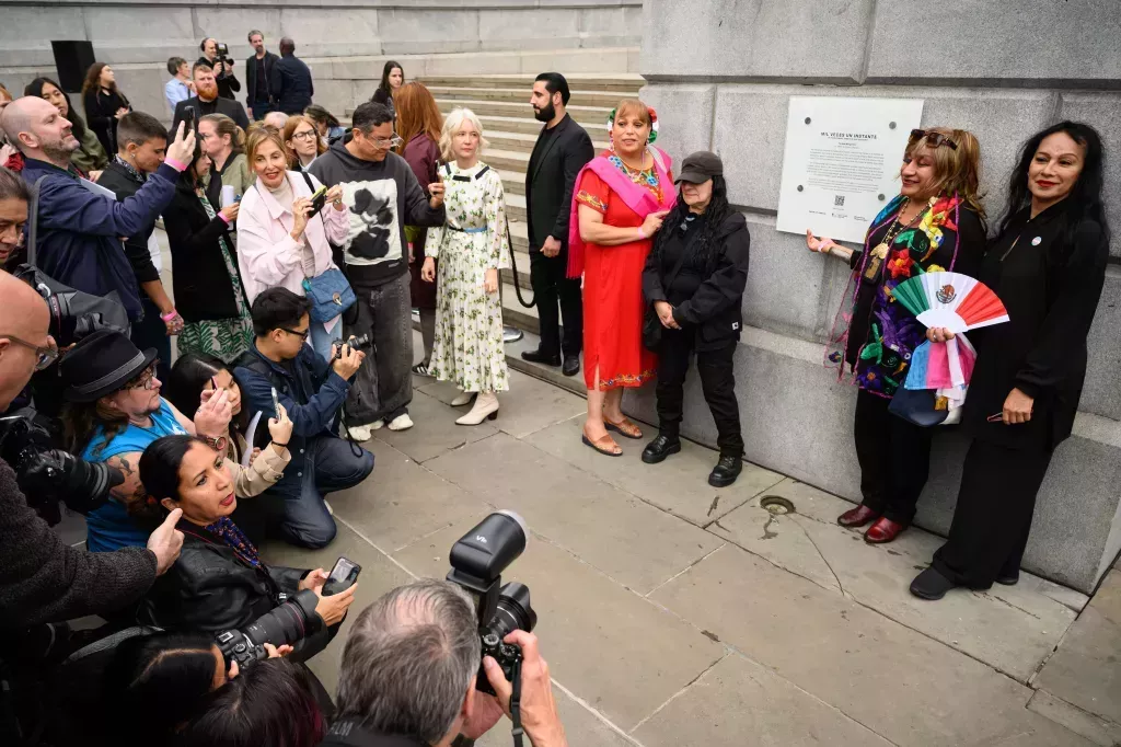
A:
[[[381,162],[363,160],[352,156],[340,140],[316,158],[308,172],[327,187],[343,187],[343,202],[350,211],[343,258],[351,285],[376,287],[408,273],[402,250],[406,223],[444,224],[444,208],[428,206],[413,169],[395,153]]]

